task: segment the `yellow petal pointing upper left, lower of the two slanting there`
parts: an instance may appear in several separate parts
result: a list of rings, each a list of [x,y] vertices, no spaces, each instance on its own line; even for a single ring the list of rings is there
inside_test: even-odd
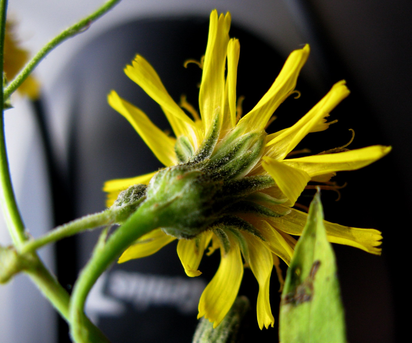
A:
[[[115,91],[108,95],[108,102],[129,121],[160,162],[166,167],[176,163],[174,138],[166,135],[143,111],[120,98]]]

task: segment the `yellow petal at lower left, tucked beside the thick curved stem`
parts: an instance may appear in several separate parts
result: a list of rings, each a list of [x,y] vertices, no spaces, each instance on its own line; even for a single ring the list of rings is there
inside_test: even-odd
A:
[[[162,229],[155,229],[140,237],[133,245],[128,247],[119,257],[117,263],[123,263],[131,259],[140,259],[158,252],[162,247],[175,240],[176,237],[166,235]]]

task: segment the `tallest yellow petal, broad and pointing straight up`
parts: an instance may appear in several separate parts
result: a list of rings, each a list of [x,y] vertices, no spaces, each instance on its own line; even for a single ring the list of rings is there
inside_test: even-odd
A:
[[[224,106],[225,64],[231,17],[213,10],[210,15],[209,35],[203,64],[202,81],[199,90],[199,108],[204,132],[213,123],[216,113]],[[218,112],[217,112],[218,111]]]

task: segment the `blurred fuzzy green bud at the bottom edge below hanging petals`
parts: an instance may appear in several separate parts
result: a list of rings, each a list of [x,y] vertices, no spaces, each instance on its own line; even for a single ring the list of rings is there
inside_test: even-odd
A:
[[[213,329],[213,323],[202,318],[197,324],[192,343],[236,343],[241,321],[250,308],[246,296],[238,296],[222,322]]]

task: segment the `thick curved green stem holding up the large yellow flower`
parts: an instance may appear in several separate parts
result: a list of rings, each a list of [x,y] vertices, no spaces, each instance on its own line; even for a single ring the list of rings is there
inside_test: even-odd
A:
[[[70,334],[77,343],[88,342],[90,337],[82,330],[84,303],[98,277],[126,250],[133,241],[156,229],[159,224],[152,206],[143,203],[129,219],[107,239],[105,231],[93,255],[77,279],[70,299]]]

